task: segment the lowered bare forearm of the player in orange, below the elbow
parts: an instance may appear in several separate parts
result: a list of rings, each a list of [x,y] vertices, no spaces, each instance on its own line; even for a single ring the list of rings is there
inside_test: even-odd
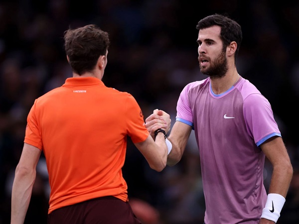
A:
[[[35,176],[35,171],[16,171],[12,185],[10,224],[24,223],[32,194],[32,187],[35,181]]]

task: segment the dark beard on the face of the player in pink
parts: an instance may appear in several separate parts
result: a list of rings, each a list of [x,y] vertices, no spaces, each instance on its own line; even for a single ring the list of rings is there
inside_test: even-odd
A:
[[[200,65],[199,68],[201,73],[204,75],[208,75],[214,78],[224,77],[228,70],[225,51],[222,51],[215,61],[211,61],[211,66],[209,68],[204,69]]]

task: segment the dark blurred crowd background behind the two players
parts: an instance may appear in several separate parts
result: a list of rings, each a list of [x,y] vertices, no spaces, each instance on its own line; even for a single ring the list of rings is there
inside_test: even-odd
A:
[[[27,113],[36,98],[72,76],[63,50],[65,30],[94,23],[109,32],[106,86],[131,93],[145,118],[161,109],[173,124],[180,91],[206,78],[199,71],[195,27],[215,12],[242,26],[238,72],[270,101],[295,170],[278,224],[298,224],[299,1],[289,0],[0,0],[0,224],[10,222]],[[266,188],[271,169],[266,161]],[[193,131],[182,160],[159,173],[129,139],[123,173],[143,224],[203,223]],[[48,195],[42,156],[25,224],[46,224]]]

